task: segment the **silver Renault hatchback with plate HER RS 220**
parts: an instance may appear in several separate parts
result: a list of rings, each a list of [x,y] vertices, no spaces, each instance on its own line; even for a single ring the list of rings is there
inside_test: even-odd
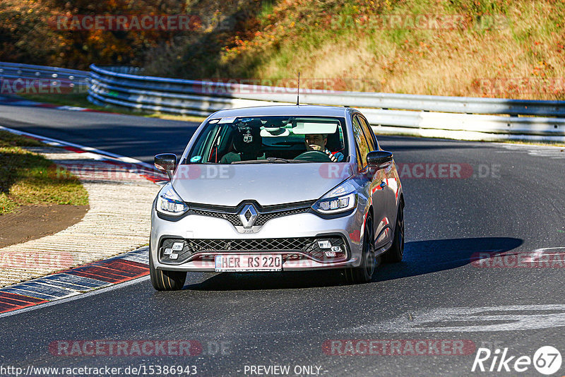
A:
[[[182,137],[182,136],[179,136]],[[187,271],[340,269],[369,282],[404,250],[404,196],[391,152],[356,109],[270,106],[215,112],[153,203],[150,277],[182,289]]]

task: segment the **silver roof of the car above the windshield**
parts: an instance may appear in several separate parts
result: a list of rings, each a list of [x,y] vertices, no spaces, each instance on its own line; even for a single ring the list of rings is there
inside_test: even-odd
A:
[[[273,106],[242,107],[220,110],[210,115],[210,119],[226,116],[345,116],[348,107],[319,106],[309,104],[283,104]]]

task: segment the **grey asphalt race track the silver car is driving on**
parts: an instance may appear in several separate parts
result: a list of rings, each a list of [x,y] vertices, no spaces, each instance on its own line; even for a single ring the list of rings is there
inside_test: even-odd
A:
[[[179,121],[14,107],[0,107],[0,125],[146,162],[157,152],[180,153],[194,131],[194,124]],[[252,372],[265,370],[251,366],[273,365],[290,366],[290,376],[309,371],[297,366],[314,366],[314,372],[319,367],[323,376],[542,376],[531,364],[521,373],[513,366],[542,346],[565,356],[565,270],[559,268],[565,266],[559,262],[565,253],[565,152],[379,140],[404,169],[407,243],[403,263],[382,265],[373,282],[344,285],[335,273],[189,273],[182,292],[155,292],[143,279],[1,318],[0,364],[194,365],[201,376],[258,376]],[[450,164],[462,177],[438,178],[439,169],[445,174],[438,164]],[[544,248],[563,249],[545,251],[553,253],[546,256],[552,264],[535,268],[513,268],[516,258],[472,263],[479,253],[519,253],[528,262],[528,253]],[[49,349],[60,340],[195,340],[202,352],[70,357]],[[379,347],[363,354],[364,343],[332,340],[400,343],[393,343],[396,351],[385,351],[393,354],[382,355]],[[434,340],[436,346],[417,340]],[[412,354],[410,345],[424,354]],[[493,355],[507,348],[506,359],[514,356],[507,364],[511,372],[504,365],[496,372],[498,360],[493,372],[472,372],[479,347]],[[547,357],[537,355],[538,365]],[[492,361],[484,361],[485,369]],[[554,375],[564,374],[562,365]]]

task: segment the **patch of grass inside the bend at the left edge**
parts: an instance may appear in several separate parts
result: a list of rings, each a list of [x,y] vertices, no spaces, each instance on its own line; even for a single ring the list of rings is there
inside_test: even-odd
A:
[[[88,193],[52,161],[23,149],[44,146],[37,140],[0,131],[0,215],[19,205],[88,205]]]

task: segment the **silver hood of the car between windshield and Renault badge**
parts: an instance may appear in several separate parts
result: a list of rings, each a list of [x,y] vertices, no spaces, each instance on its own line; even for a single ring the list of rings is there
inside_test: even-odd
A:
[[[172,186],[185,202],[274,205],[318,199],[351,169],[349,163],[184,164]]]

